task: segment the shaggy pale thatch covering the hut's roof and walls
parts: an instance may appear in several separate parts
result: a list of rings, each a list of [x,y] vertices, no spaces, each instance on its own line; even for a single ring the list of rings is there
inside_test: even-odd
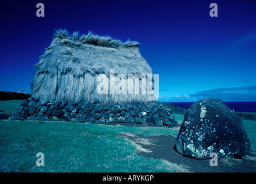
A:
[[[56,30],[49,48],[35,64],[36,75],[31,82],[33,97],[40,101],[71,101],[126,103],[147,102],[149,94],[98,94],[99,74],[153,74],[140,55],[136,41],[114,40],[89,32],[79,36]]]

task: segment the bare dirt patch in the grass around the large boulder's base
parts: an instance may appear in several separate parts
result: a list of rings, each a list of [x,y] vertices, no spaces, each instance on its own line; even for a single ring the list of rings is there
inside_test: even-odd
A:
[[[172,136],[142,136],[124,133],[125,140],[130,141],[137,148],[137,154],[146,158],[165,160],[170,164],[181,167],[181,171],[196,173],[242,173],[256,172],[256,152],[250,151],[242,159],[218,159],[218,166],[210,166],[210,160],[196,160],[178,154],[174,150],[176,138]]]

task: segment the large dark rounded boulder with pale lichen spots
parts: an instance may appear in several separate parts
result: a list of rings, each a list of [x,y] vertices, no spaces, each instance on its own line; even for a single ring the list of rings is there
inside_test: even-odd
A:
[[[220,99],[205,98],[188,108],[175,144],[177,152],[195,159],[243,156],[250,140],[242,121]]]

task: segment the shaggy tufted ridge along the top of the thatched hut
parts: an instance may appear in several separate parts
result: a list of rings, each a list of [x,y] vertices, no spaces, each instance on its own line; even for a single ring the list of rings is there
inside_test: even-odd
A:
[[[112,48],[121,48],[121,47],[139,47],[140,43],[137,41],[130,41],[129,39],[123,43],[121,40],[112,39],[110,36],[99,36],[92,33],[91,31],[88,34],[80,35],[79,32],[73,32],[69,34],[66,29],[55,30],[54,39],[63,39],[66,41],[66,44],[92,44],[101,47],[112,47]]]

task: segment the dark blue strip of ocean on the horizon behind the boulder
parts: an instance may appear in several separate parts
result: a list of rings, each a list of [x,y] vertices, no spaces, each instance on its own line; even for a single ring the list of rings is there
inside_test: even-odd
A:
[[[170,102],[179,108],[189,108],[194,102]],[[256,102],[225,102],[235,112],[256,112]]]

